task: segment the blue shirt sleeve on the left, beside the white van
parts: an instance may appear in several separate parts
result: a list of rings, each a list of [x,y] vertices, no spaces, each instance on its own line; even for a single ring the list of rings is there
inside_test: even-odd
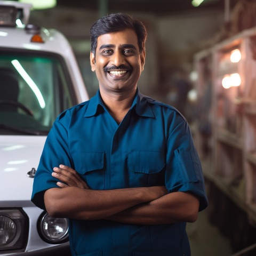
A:
[[[73,161],[68,148],[68,132],[57,118],[46,138],[31,196],[31,201],[43,210],[45,210],[44,192],[58,187],[56,184],[58,180],[52,177],[52,172],[53,167],[60,164],[73,166]]]

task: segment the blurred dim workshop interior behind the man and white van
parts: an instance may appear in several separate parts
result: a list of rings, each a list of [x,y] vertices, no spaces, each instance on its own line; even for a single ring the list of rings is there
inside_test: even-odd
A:
[[[125,12],[145,24],[139,89],[185,116],[205,176],[209,207],[187,225],[191,255],[256,255],[256,2],[192,2],[59,0],[34,8],[30,23],[68,38],[90,97],[93,23]]]

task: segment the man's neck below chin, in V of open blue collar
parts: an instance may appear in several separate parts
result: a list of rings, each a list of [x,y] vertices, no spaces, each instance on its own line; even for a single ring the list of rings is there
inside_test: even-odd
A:
[[[136,89],[124,93],[106,93],[100,91],[102,101],[117,124],[122,122],[124,116],[131,108],[135,93]]]

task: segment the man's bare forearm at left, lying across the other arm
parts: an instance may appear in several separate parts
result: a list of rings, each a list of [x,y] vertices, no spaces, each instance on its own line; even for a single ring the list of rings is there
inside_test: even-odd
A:
[[[164,187],[114,190],[51,188],[45,191],[44,202],[52,217],[95,220],[153,201],[166,193]]]

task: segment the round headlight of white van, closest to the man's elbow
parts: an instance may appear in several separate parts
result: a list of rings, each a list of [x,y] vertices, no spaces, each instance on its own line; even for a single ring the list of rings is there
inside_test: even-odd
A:
[[[68,220],[52,218],[43,213],[38,220],[38,233],[42,239],[50,244],[59,244],[68,241]]]

